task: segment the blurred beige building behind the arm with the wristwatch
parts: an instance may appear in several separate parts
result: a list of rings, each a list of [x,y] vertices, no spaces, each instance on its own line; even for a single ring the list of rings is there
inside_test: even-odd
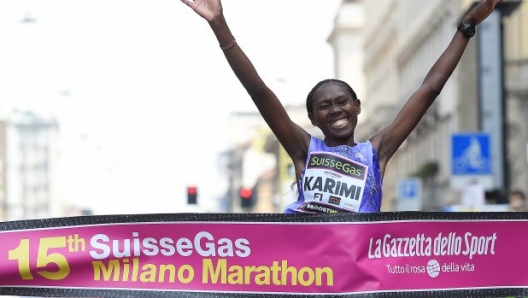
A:
[[[365,72],[368,98],[384,106],[377,114],[370,134],[392,121],[406,100],[417,90],[425,75],[452,39],[463,12],[460,1],[365,1],[370,26],[365,28]],[[385,30],[391,28],[389,30]],[[377,32],[383,31],[383,34]],[[467,52],[471,52],[470,43]],[[384,209],[397,204],[397,182],[419,175],[424,185],[425,210],[450,204],[455,198],[450,189],[450,135],[456,131],[475,131],[478,118],[475,85],[459,79],[464,61],[444,86],[440,96],[422,121],[389,162],[384,180]],[[464,91],[473,94],[463,94]],[[464,100],[459,100],[464,98]],[[463,105],[459,106],[459,103]],[[459,112],[464,112],[463,121]],[[369,121],[370,124],[370,121]],[[424,171],[423,169],[432,169]],[[423,172],[423,173],[422,173]],[[425,183],[424,183],[425,184]]]

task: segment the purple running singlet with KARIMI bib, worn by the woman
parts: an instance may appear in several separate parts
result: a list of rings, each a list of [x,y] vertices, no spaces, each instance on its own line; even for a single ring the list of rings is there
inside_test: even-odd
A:
[[[312,136],[297,181],[298,199],[284,212],[379,212],[381,182],[378,155],[370,141],[329,147]]]

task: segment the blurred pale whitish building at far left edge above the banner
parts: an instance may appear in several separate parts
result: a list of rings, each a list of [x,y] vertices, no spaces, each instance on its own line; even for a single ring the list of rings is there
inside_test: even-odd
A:
[[[10,114],[0,120],[0,148],[0,220],[62,216],[55,120]]]

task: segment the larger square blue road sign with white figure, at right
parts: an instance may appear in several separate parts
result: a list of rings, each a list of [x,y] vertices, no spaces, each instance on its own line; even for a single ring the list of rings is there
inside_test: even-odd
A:
[[[452,175],[491,175],[490,136],[460,133],[451,137]]]

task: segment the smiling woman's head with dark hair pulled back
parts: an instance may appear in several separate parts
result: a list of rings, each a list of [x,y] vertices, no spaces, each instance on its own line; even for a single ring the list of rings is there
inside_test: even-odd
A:
[[[354,130],[361,102],[339,82],[326,82],[315,89],[312,124],[319,127],[330,146],[354,144]]]

